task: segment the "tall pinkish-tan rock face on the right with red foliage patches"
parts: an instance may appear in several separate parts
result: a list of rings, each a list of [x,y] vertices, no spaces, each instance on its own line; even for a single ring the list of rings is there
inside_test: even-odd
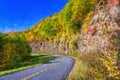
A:
[[[88,34],[80,37],[80,52],[86,53],[114,49],[117,47],[117,45],[115,46],[112,43],[114,39],[120,39],[119,1],[100,0],[95,14],[89,23]],[[120,46],[118,45],[118,47]]]

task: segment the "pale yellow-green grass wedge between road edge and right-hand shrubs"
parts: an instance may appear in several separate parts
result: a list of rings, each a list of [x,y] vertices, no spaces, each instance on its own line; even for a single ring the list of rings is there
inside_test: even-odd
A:
[[[76,58],[74,68],[69,74],[67,80],[88,80],[86,75],[87,70],[88,67],[85,64],[83,64],[83,62],[80,59]]]

